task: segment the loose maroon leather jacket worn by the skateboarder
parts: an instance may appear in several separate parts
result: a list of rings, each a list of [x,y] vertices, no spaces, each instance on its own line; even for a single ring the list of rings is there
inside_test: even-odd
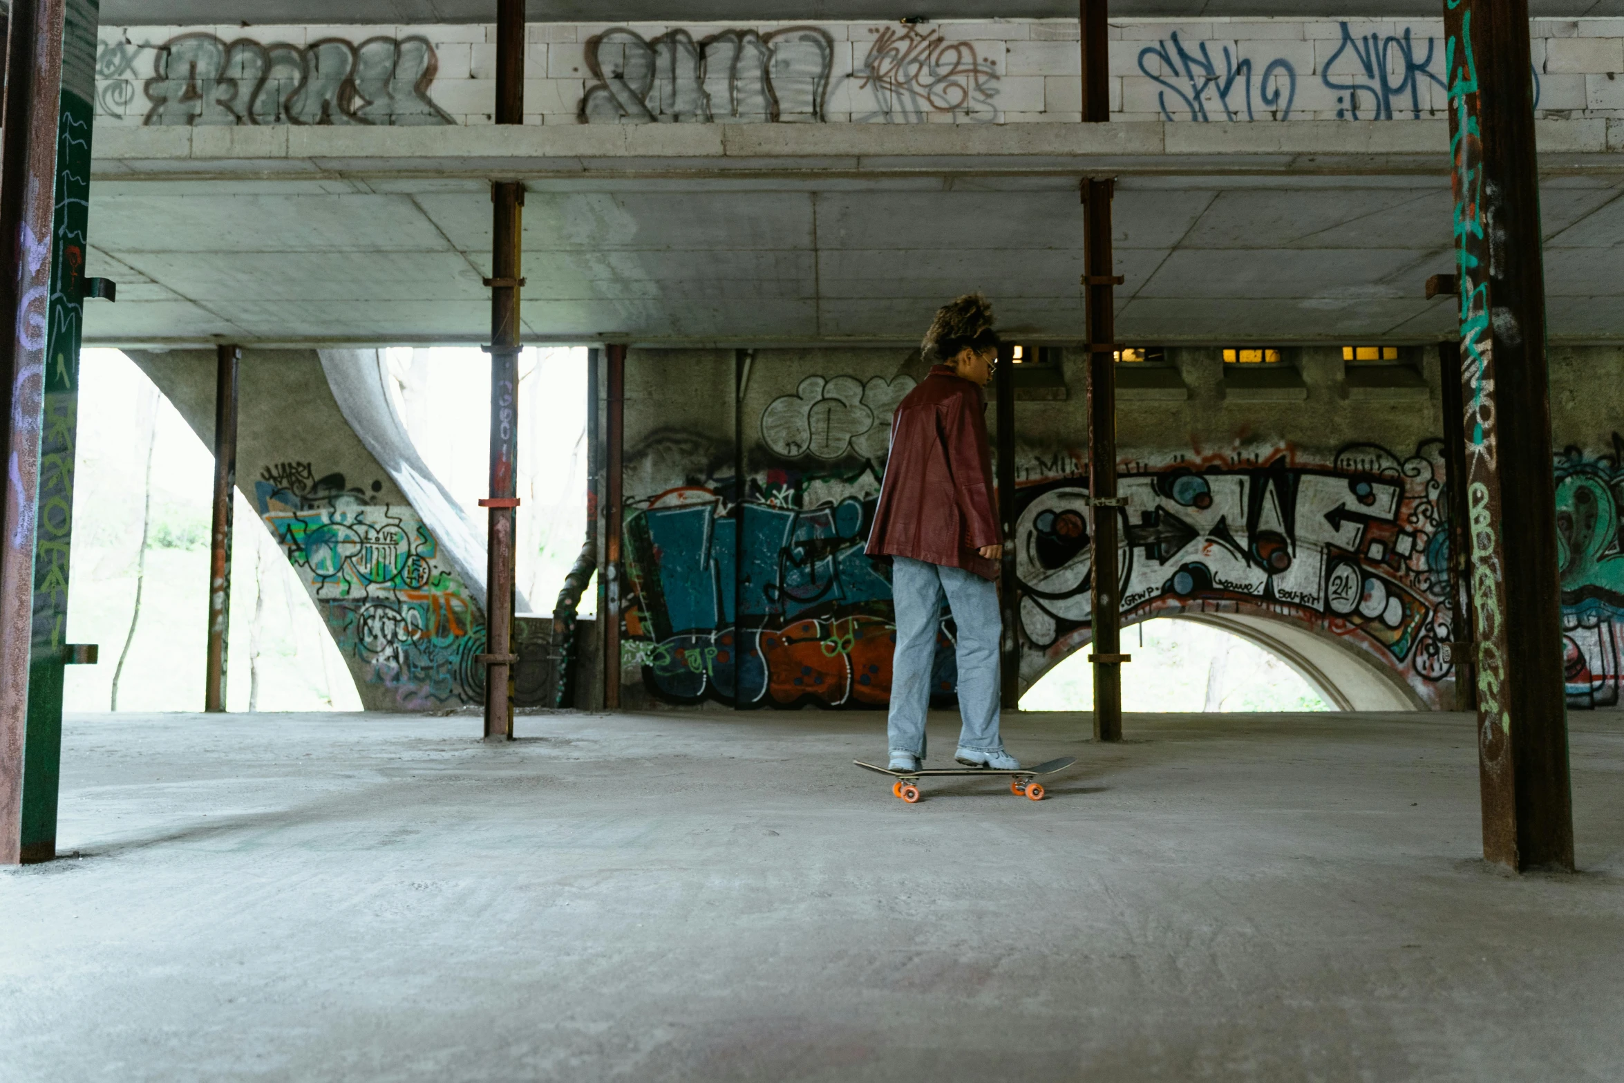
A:
[[[986,408],[981,388],[948,365],[932,367],[896,406],[870,557],[913,557],[997,578],[999,562],[976,552],[1004,542],[992,508]]]

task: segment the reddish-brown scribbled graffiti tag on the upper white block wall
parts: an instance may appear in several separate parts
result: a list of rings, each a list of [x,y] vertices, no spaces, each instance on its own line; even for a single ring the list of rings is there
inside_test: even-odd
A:
[[[950,42],[939,29],[880,28],[851,78],[874,94],[874,112],[854,120],[924,123],[932,112],[997,119],[997,65],[976,58],[973,42]]]

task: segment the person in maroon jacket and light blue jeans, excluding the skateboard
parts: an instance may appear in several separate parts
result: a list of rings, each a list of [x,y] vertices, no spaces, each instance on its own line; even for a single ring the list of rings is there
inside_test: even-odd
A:
[[[999,362],[992,305],[966,294],[937,310],[921,352],[935,362],[896,406],[885,481],[867,554],[892,562],[896,648],[887,723],[890,770],[918,771],[942,599],[958,627],[953,758],[965,766],[1020,766],[999,737],[999,593],[1004,536],[992,505],[987,399]]]

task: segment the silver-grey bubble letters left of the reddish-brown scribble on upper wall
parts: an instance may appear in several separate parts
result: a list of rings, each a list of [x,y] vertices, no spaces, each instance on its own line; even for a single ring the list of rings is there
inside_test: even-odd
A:
[[[598,78],[581,97],[585,123],[818,122],[835,45],[815,26],[771,34],[723,31],[695,42],[684,29],[654,41],[628,29],[586,42]]]

